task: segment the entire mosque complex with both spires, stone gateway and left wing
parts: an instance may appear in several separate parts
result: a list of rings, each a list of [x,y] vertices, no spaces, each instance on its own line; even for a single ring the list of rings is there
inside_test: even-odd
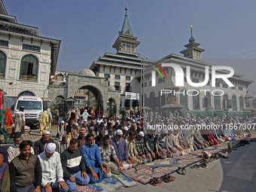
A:
[[[83,107],[90,101],[90,105],[102,108],[104,115],[119,115],[123,108],[136,107],[193,115],[245,116],[254,111],[247,94],[253,81],[243,75],[235,73],[228,78],[233,87],[220,78],[213,87],[209,71],[205,86],[199,89],[190,85],[203,83],[206,67],[215,67],[202,61],[204,50],[196,42],[192,27],[189,42],[181,51],[183,56],[169,54],[154,61],[136,53],[140,41],[133,35],[127,7],[125,11],[123,26],[112,45],[116,53],[105,53],[79,73],[56,72],[60,41],[39,36],[37,27],[17,23],[0,0],[0,88],[7,94],[8,108],[18,96],[32,95],[50,100],[53,105],[76,97],[77,105]],[[184,74],[190,67],[190,77],[182,77],[183,86],[176,86],[175,69],[162,67],[163,63],[178,65]],[[219,69],[216,74],[227,75],[227,71]],[[87,91],[90,94],[84,96]]]

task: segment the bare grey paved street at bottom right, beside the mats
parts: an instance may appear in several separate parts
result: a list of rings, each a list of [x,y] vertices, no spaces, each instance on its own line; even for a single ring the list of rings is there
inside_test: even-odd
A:
[[[245,145],[228,154],[228,159],[208,164],[208,169],[187,169],[187,175],[174,173],[176,180],[159,186],[139,184],[124,188],[132,191],[255,191],[256,189],[256,143]]]

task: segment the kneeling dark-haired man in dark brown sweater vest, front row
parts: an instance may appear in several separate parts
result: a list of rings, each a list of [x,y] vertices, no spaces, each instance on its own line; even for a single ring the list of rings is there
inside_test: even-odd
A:
[[[40,192],[42,172],[38,157],[31,154],[31,141],[20,143],[20,155],[10,163],[11,191]],[[35,184],[34,184],[35,179]]]

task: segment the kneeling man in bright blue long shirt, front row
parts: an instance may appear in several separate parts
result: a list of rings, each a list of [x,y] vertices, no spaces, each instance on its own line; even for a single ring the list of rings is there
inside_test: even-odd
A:
[[[87,167],[90,183],[99,183],[103,178],[111,176],[108,175],[108,172],[102,165],[99,147],[98,145],[94,144],[93,134],[87,135],[87,143],[81,149],[84,153],[84,162]]]

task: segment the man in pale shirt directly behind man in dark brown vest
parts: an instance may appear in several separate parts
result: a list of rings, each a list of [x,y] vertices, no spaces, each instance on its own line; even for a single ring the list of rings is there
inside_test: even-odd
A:
[[[11,162],[11,160],[13,160],[15,157],[17,157],[20,154],[19,145],[21,142],[22,142],[21,134],[16,133],[14,135],[14,144],[8,148],[8,162],[9,163]],[[34,154],[34,150],[32,147],[31,147],[31,153]]]

